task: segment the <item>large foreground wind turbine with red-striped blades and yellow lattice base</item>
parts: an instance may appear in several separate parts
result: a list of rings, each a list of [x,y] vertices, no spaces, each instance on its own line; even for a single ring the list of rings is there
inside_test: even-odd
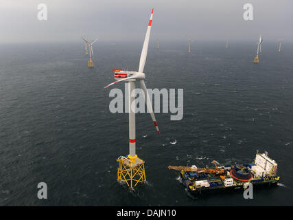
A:
[[[152,103],[150,101],[150,96],[148,94],[147,88],[145,87],[145,74],[143,73],[143,69],[145,67],[145,61],[148,54],[148,45],[150,41],[150,29],[152,27],[152,16],[153,16],[154,8],[152,9],[152,14],[150,15],[150,21],[148,23],[148,30],[145,34],[145,41],[143,43],[143,49],[141,51],[141,58],[139,61],[139,71],[138,72],[129,72],[123,71],[122,69],[113,69],[114,77],[117,81],[114,83],[110,83],[106,87],[113,85],[115,83],[119,83],[121,81],[128,82],[128,108],[129,108],[129,155],[127,157],[120,156],[117,159],[119,162],[119,168],[117,171],[117,179],[119,181],[126,181],[130,188],[137,186],[139,182],[145,182],[145,167],[144,161],[137,157],[135,151],[135,82],[139,81],[141,85],[141,89],[143,89],[143,94],[145,97],[145,102],[148,107],[148,111],[152,117],[154,125],[156,126],[156,131],[160,134],[158,124],[156,123],[156,118],[154,117],[154,112],[152,111]],[[106,88],[105,87],[105,88]],[[133,104],[132,104],[133,103]]]

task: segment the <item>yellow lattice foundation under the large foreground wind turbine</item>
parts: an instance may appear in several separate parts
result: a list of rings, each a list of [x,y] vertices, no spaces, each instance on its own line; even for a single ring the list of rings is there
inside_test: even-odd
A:
[[[144,183],[145,179],[145,162],[134,157],[120,156],[117,159],[119,168],[117,170],[117,180],[125,181],[129,188],[137,186],[138,183]]]

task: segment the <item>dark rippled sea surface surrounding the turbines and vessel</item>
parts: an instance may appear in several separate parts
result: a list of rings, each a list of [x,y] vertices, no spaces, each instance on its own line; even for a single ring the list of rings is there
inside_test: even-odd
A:
[[[117,182],[128,154],[128,115],[109,111],[113,68],[137,71],[143,42],[95,43],[95,68],[80,43],[0,45],[1,206],[293,205],[293,45],[254,42],[150,43],[148,88],[184,89],[183,120],[137,114],[137,155],[147,184]],[[62,50],[64,48],[64,50]],[[171,144],[175,143],[176,144]],[[194,197],[169,165],[250,163],[256,151],[278,162],[279,186]],[[37,184],[48,199],[37,197]]]

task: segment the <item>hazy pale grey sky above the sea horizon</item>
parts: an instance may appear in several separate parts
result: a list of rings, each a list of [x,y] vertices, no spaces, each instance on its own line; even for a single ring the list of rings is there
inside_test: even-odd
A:
[[[37,5],[48,7],[48,21],[38,21]],[[244,21],[251,3],[253,21]],[[143,41],[154,7],[152,39],[293,41],[292,0],[1,0],[0,43]]]

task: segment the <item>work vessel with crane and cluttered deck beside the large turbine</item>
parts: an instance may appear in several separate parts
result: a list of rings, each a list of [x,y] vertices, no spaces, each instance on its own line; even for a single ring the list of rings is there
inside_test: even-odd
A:
[[[183,185],[190,192],[215,192],[219,190],[245,190],[249,184],[274,186],[279,182],[278,164],[268,153],[257,152],[252,164],[226,164],[220,166],[215,160],[213,168],[193,166],[169,166],[179,170]]]

